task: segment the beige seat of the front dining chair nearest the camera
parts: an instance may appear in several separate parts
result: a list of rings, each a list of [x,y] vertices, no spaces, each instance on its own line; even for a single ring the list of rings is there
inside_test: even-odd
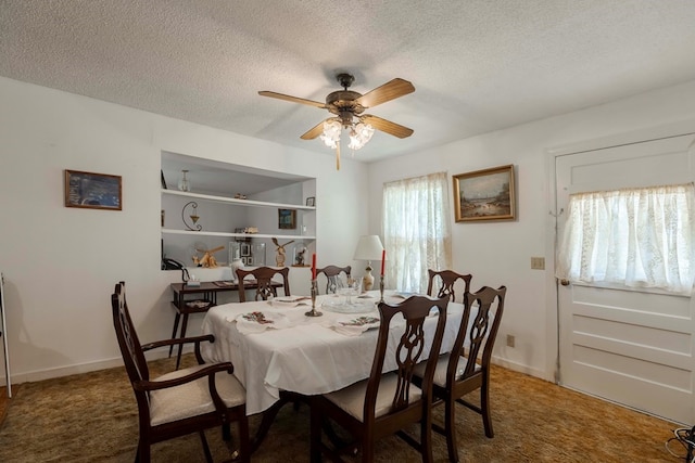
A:
[[[367,391],[367,380],[352,384],[343,389],[334,393],[326,394],[326,397],[331,402],[353,415],[359,421],[364,421],[364,406],[365,394]],[[399,376],[395,373],[387,373],[381,376],[379,382],[379,393],[377,394],[377,402],[375,406],[375,416],[382,416],[391,410],[393,397],[395,396],[395,389],[399,384]],[[419,387],[410,385],[408,402],[413,403],[422,397],[422,391]]]

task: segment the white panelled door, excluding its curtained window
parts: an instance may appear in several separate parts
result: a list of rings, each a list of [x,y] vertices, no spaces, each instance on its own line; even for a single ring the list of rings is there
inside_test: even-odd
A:
[[[695,180],[695,134],[556,157],[557,210],[571,193]],[[558,236],[564,224],[558,219]],[[558,284],[559,382],[679,423],[695,424],[692,297]]]

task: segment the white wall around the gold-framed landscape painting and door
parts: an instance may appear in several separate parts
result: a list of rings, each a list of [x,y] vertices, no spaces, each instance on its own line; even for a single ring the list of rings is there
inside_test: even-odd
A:
[[[446,171],[452,205],[453,268],[472,273],[473,290],[502,284],[508,288],[495,361],[552,380],[557,324],[554,218],[548,214],[554,190],[548,150],[693,117],[695,81],[372,164],[369,166],[370,231],[380,232],[384,182]],[[451,176],[507,164],[516,168],[517,220],[454,222]],[[544,256],[546,270],[531,270],[531,256]],[[516,337],[515,348],[506,347],[507,334]]]

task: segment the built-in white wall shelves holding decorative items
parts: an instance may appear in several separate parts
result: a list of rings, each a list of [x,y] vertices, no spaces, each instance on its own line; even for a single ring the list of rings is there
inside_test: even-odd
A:
[[[192,266],[200,249],[224,246],[227,253],[215,256],[222,266],[235,258],[270,265],[282,246],[287,265],[295,266],[302,249],[305,256],[316,248],[317,210],[309,201],[316,179],[169,152],[162,152],[161,168],[163,258]]]

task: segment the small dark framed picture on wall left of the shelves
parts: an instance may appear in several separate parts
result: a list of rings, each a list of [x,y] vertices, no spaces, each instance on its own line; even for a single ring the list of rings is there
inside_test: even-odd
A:
[[[65,169],[65,207],[121,210],[121,176]]]

